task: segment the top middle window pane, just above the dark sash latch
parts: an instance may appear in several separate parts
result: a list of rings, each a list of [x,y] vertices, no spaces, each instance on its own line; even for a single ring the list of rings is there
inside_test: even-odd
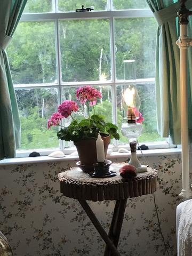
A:
[[[107,9],[107,0],[84,0],[83,2],[58,0],[59,11],[61,12],[75,12],[76,9],[82,9],[82,4],[85,9],[91,6],[94,6],[95,11],[104,11]]]

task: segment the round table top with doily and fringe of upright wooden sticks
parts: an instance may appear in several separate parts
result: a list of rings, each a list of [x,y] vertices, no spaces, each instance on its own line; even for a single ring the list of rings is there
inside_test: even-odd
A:
[[[78,167],[58,174],[61,193],[74,199],[91,201],[118,200],[154,193],[157,189],[157,171],[148,167],[147,172],[124,179],[119,169],[125,163],[113,163],[110,170],[117,173],[110,178],[92,178]]]

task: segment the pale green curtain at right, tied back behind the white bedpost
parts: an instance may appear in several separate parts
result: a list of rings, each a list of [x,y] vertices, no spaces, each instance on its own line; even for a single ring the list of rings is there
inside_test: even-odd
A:
[[[171,135],[173,143],[180,144],[180,57],[179,47],[175,44],[179,36],[176,17],[180,3],[177,0],[146,0],[146,2],[158,22],[155,73],[158,132],[162,137]],[[186,2],[186,7],[188,9],[192,7],[191,0]],[[190,26],[188,27],[190,30]],[[190,60],[191,49],[189,49]],[[189,63],[190,73],[192,73],[192,62]],[[192,81],[192,74],[190,76],[189,81]],[[192,135],[190,82],[188,88],[189,131]]]

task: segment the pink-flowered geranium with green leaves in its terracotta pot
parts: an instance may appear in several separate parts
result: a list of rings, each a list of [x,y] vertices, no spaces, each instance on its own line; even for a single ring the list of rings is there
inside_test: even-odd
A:
[[[47,122],[48,129],[51,126],[60,126],[57,133],[58,139],[65,141],[73,141],[77,148],[79,159],[82,165],[92,168],[93,163],[97,162],[96,140],[98,133],[104,142],[105,155],[110,143],[110,138],[119,139],[117,126],[112,123],[105,122],[105,116],[95,114],[94,106],[98,98],[102,98],[101,93],[89,85],[81,86],[76,90],[77,100],[86,104],[88,117],[80,121],[75,119],[74,113],[79,110],[77,102],[65,100],[58,107],[58,112],[54,113]],[[90,115],[90,107],[93,108],[93,115]],[[71,123],[65,127],[62,126],[62,119],[71,117]]]

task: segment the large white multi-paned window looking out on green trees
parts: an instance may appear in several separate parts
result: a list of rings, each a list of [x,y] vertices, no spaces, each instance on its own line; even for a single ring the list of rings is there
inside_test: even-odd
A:
[[[85,0],[94,11],[75,12],[81,5],[79,0],[28,0],[7,49],[21,116],[20,150],[71,146],[47,130],[47,119],[62,100],[75,100],[81,85],[102,92],[98,111],[121,129],[123,61],[130,59],[136,62],[145,118],[139,141],[164,140],[157,134],[155,112],[157,24],[146,2]],[[126,142],[121,135],[114,143]]]

